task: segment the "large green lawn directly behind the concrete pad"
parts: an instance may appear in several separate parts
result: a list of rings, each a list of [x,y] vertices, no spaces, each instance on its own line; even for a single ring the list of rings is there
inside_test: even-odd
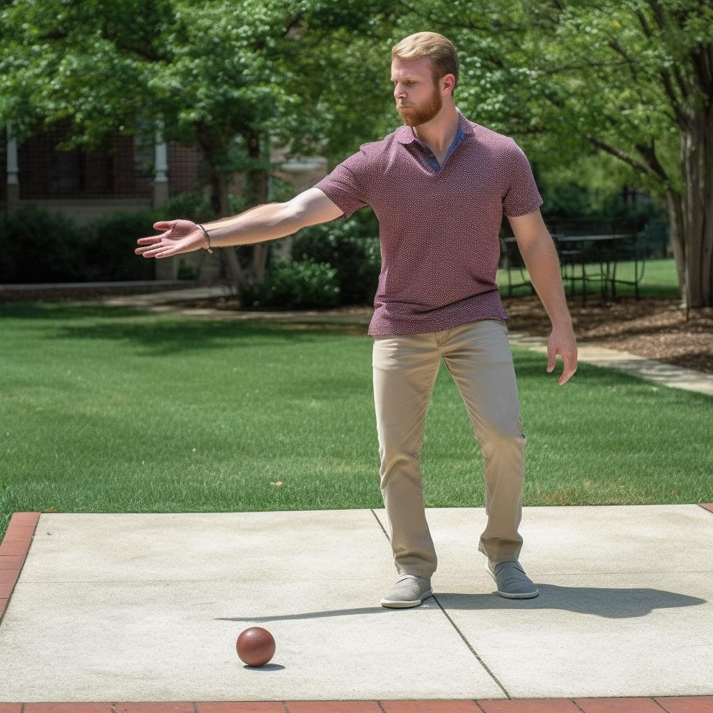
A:
[[[0,537],[11,513],[382,508],[364,334],[101,304],[0,306]],[[513,347],[525,506],[713,501],[709,396]],[[441,367],[426,507],[484,507]],[[272,483],[282,481],[282,486]]]

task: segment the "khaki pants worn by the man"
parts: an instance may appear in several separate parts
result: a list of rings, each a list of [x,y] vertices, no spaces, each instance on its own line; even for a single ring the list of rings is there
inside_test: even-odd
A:
[[[523,545],[518,525],[526,437],[506,322],[479,319],[441,332],[374,336],[381,495],[399,575],[431,578],[436,571],[419,461],[441,356],[461,392],[483,453],[488,524],[478,550],[498,563],[517,560]]]

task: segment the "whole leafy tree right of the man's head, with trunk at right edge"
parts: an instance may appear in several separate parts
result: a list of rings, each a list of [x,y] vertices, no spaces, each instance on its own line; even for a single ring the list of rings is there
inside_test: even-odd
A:
[[[400,36],[426,21],[453,41],[456,104],[478,123],[525,141],[542,165],[600,152],[629,167],[667,206],[684,306],[713,304],[710,0],[399,7]]]

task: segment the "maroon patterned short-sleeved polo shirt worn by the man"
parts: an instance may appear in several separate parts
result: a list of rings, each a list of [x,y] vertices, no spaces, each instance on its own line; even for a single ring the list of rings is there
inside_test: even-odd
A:
[[[365,205],[379,220],[372,336],[510,319],[496,282],[503,212],[523,215],[543,200],[511,137],[460,111],[458,128],[464,136],[439,170],[414,128],[402,125],[361,144],[314,186],[342,209],[339,220]]]

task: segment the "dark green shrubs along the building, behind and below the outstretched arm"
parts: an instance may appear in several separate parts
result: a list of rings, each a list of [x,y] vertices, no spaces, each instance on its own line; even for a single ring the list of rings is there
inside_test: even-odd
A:
[[[245,210],[241,198],[234,198],[231,210]],[[88,225],[79,225],[63,212],[23,205],[0,216],[0,243],[6,245],[0,252],[0,281],[153,279],[155,261],[135,255],[138,238],[158,235],[153,227],[158,220],[182,217],[205,222],[212,220],[210,216],[210,205],[200,192],[182,193],[153,210],[113,212]],[[242,301],[285,309],[370,304],[381,270],[373,222],[370,214],[300,231],[294,237],[292,260],[268,260],[262,286],[247,290]],[[238,255],[247,260],[245,250]],[[178,267],[179,279],[197,279],[180,256]]]

